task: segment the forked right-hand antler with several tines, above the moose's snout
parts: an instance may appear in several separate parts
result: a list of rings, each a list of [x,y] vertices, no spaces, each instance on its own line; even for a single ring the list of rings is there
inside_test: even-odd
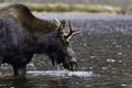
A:
[[[78,35],[79,34],[79,31],[78,30],[75,30],[70,23],[70,21],[68,22],[69,23],[69,33],[66,35],[66,40],[69,41],[72,37],[74,37],[75,35]]]

